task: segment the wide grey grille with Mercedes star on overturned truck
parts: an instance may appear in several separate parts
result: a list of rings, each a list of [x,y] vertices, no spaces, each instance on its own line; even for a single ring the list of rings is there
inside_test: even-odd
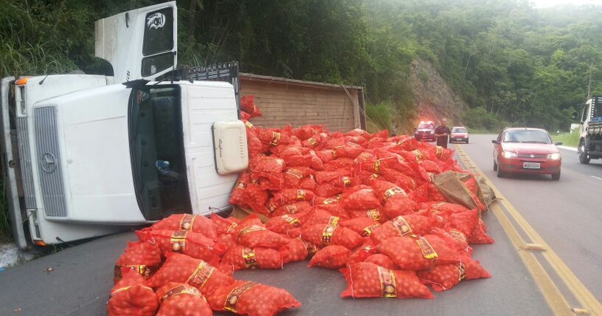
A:
[[[54,107],[34,110],[38,172],[46,216],[66,217],[61,155]]]

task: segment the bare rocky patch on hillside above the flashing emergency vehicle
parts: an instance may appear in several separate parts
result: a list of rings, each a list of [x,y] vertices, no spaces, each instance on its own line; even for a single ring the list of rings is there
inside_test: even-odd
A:
[[[453,93],[430,63],[414,60],[409,78],[419,119],[447,117],[449,126],[462,125],[462,113],[468,110],[468,105]]]

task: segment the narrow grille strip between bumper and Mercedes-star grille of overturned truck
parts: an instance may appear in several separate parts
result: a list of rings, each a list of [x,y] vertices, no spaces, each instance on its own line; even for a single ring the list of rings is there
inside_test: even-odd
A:
[[[27,118],[17,118],[17,141],[19,143],[19,167],[23,182],[23,198],[25,208],[36,208],[36,191],[34,190],[34,176],[31,170],[31,150],[29,150],[29,132]]]

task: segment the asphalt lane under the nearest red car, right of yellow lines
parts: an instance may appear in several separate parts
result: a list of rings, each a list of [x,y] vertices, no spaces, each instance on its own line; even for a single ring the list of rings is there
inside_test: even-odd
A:
[[[495,137],[471,135],[471,143],[460,146],[585,287],[602,299],[602,160],[580,164],[576,152],[560,149],[559,181],[544,175],[497,178],[491,143]]]

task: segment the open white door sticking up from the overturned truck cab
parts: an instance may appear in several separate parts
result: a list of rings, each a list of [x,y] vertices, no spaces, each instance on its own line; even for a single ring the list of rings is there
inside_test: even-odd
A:
[[[177,20],[175,1],[98,20],[95,55],[111,63],[116,82],[157,78],[175,69]]]

